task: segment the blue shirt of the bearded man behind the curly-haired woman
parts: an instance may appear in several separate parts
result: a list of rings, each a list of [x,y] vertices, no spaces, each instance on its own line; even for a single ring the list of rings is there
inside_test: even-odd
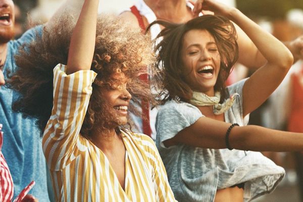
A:
[[[6,71],[16,69],[14,56],[20,45],[35,38],[35,32],[41,32],[41,26],[24,33],[18,40],[8,42],[8,53],[4,66]],[[42,153],[39,130],[34,121],[23,118],[20,113],[12,112],[15,92],[0,88],[0,123],[3,124],[4,144],[2,153],[8,163],[14,181],[14,198],[32,180],[36,184],[29,192],[39,201],[49,201],[47,192],[46,163]]]

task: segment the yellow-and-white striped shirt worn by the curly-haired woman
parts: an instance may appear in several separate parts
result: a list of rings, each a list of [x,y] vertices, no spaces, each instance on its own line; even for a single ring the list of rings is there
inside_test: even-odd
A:
[[[122,189],[102,150],[79,134],[96,74],[65,70],[54,69],[54,107],[42,141],[56,201],[175,201],[153,140],[127,131]]]

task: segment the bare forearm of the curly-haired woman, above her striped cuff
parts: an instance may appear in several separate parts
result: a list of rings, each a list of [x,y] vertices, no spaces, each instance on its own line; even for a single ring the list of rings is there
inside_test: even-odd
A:
[[[99,0],[85,0],[71,37],[67,73],[89,70],[93,58]]]

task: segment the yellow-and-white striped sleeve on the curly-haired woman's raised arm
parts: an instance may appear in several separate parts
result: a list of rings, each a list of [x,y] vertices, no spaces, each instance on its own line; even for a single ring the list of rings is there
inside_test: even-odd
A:
[[[96,73],[81,70],[66,74],[65,65],[54,69],[54,106],[42,139],[46,162],[52,171],[63,169],[72,155],[83,151],[80,129],[92,93]]]

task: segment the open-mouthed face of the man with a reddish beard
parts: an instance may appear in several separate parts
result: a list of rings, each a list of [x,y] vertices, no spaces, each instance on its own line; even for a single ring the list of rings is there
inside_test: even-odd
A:
[[[15,12],[12,0],[0,0],[0,43],[7,43],[14,35]]]

